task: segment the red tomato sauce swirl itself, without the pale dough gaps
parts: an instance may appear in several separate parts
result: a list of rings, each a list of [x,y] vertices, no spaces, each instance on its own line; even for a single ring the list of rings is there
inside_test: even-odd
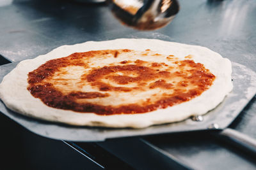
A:
[[[145,52],[148,52],[146,50]],[[122,53],[133,50],[99,50],[83,53],[73,53],[68,57],[53,59],[28,74],[28,90],[32,96],[41,99],[44,104],[52,108],[72,110],[80,113],[96,113],[97,115],[146,113],[159,108],[167,108],[199,96],[209,89],[215,76],[203,64],[186,60],[173,60],[175,67],[164,62],[147,62],[144,60],[123,60],[117,65],[91,67],[86,60],[97,57],[118,58]],[[148,55],[141,52],[141,55]],[[158,53],[155,53],[156,57]],[[168,55],[166,59],[173,59]],[[81,82],[86,82],[95,91],[60,90],[54,85],[52,78],[61,68],[79,66],[90,69],[81,75]],[[172,81],[170,80],[177,80]],[[62,82],[62,81],[61,81]],[[65,81],[62,82],[65,86]],[[126,86],[127,85],[127,86]],[[78,85],[77,85],[78,86]],[[77,88],[79,89],[79,88]],[[92,99],[111,97],[112,92],[129,93],[145,92],[147,90],[161,90],[162,93],[145,96],[146,101],[140,103],[119,104],[117,106],[99,104]],[[152,99],[156,96],[156,99]],[[83,102],[78,102],[82,100]]]

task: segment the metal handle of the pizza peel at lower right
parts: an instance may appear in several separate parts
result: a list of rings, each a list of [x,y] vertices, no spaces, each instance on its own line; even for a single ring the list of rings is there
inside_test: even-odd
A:
[[[249,151],[253,155],[256,155],[256,140],[246,136],[245,134],[235,131],[230,128],[226,128],[223,131],[218,132],[218,136],[223,137],[224,139],[229,139],[233,141],[236,146]]]

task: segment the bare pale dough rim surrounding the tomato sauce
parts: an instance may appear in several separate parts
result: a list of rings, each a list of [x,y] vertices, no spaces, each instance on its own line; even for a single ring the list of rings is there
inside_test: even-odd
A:
[[[51,108],[40,99],[33,97],[27,90],[28,73],[44,64],[47,60],[66,57],[75,52],[91,50],[131,49],[175,55],[180,60],[193,56],[195,62],[204,64],[216,76],[211,87],[200,96],[190,101],[165,109],[148,113],[127,115],[96,115],[95,113],[78,113],[70,110]],[[35,59],[23,60],[15,69],[4,76],[0,84],[0,98],[10,110],[52,122],[70,125],[88,125],[101,127],[143,128],[155,124],[164,124],[184,120],[191,115],[203,115],[223,101],[232,90],[231,62],[208,48],[195,45],[184,45],[158,39],[114,39],[110,41],[87,41],[76,45],[60,46],[51,52]]]

